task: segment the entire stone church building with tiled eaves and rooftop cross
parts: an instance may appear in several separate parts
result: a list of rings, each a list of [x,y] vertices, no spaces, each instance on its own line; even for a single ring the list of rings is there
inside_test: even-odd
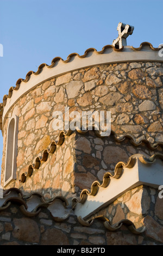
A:
[[[163,243],[163,58],[133,27],[101,51],[18,79],[0,106],[1,245]],[[54,112],[111,112],[111,132],[54,129]]]

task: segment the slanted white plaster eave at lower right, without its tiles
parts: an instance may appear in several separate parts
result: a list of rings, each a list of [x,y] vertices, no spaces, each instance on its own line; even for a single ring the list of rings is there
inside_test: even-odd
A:
[[[158,188],[162,182],[163,166],[160,159],[146,164],[136,159],[133,168],[123,168],[119,179],[110,178],[109,185],[106,188],[99,187],[96,196],[89,195],[84,203],[77,203],[74,213],[82,218],[90,217],[132,188],[140,185]]]

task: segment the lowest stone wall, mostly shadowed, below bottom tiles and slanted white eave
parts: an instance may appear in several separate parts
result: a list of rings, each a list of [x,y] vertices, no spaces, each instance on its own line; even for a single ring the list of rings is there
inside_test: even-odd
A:
[[[158,191],[139,186],[96,214],[108,217],[111,224],[128,218],[138,230],[145,225],[146,230],[137,235],[124,224],[110,231],[98,218],[90,227],[84,227],[73,211],[61,223],[54,221],[46,208],[41,208],[35,217],[24,216],[20,206],[11,203],[0,212],[0,245],[162,245],[162,209],[163,199],[159,199]]]

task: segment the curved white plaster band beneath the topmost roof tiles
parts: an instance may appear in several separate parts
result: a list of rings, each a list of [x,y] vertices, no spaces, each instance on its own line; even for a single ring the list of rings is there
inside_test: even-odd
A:
[[[54,77],[66,74],[78,69],[87,68],[89,66],[112,64],[112,63],[124,63],[124,62],[162,62],[162,58],[159,57],[158,51],[152,50],[149,45],[144,45],[141,50],[133,50],[131,46],[125,46],[122,51],[115,51],[113,48],[106,48],[103,53],[95,50],[87,52],[85,57],[74,55],[65,62],[64,60],[58,60],[55,65],[45,65],[39,74],[30,75],[28,81],[21,81],[20,88],[12,90],[11,97],[7,97],[7,102],[3,109],[3,119],[7,117],[11,107],[30,90],[33,90],[41,83],[48,81]]]

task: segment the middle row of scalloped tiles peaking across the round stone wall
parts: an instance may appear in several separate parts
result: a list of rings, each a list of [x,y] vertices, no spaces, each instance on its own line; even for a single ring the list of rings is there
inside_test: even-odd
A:
[[[50,153],[54,154],[57,145],[62,145],[65,141],[65,137],[70,136],[72,134],[72,132],[73,132],[72,130],[68,130],[67,132],[61,131],[58,136],[58,141],[57,142],[52,141],[51,144],[49,145],[49,148],[43,150],[42,157],[37,156],[35,158],[35,162],[32,164],[29,164],[27,172],[24,172],[21,174],[20,182],[24,183],[26,181],[27,177],[32,176],[34,169],[40,168],[41,161],[46,162],[49,154]],[[86,130],[86,131],[76,130],[76,132],[78,132],[79,134],[85,135],[87,132],[89,132],[89,130]],[[103,136],[101,136],[99,131],[94,130],[94,132],[97,137],[104,138]],[[145,143],[148,148],[153,149],[153,150],[158,148],[159,146],[163,148],[163,142],[155,143],[152,145],[146,139],[142,139],[142,140],[136,142],[135,139],[131,135],[128,135],[128,134],[123,135],[118,138],[116,133],[114,131],[111,131],[111,135],[113,135],[116,142],[120,142],[120,143],[128,138],[130,140],[130,143],[133,144],[135,147],[139,147],[142,143]]]

